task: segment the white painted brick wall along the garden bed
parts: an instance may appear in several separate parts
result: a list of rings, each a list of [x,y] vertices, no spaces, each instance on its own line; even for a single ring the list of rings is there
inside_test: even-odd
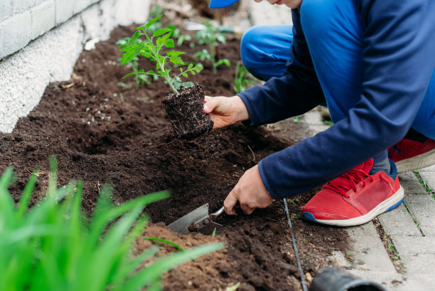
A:
[[[1,4],[7,1],[0,0]],[[53,3],[56,5],[57,0],[33,1],[32,9],[5,16],[0,21],[0,58],[6,55],[0,60],[0,132],[3,133],[12,132],[18,118],[28,115],[38,105],[48,83],[70,78],[88,40],[106,40],[118,25],[144,23],[151,4],[151,0],[69,0],[77,5],[74,9],[78,5],[87,9],[73,12],[75,16],[53,28]],[[49,21],[45,23],[43,18]],[[50,30],[43,33],[45,29]],[[36,37],[40,33],[43,35]],[[30,41],[32,38],[34,41]]]

